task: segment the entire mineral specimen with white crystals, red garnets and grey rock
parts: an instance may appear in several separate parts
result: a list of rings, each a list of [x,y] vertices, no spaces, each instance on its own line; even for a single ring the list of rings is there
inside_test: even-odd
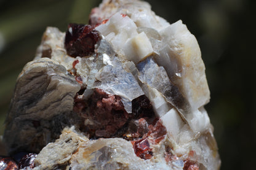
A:
[[[103,0],[89,25],[46,29],[18,76],[4,142],[10,155],[30,153],[20,169],[215,170],[209,99],[182,21],[147,2]]]

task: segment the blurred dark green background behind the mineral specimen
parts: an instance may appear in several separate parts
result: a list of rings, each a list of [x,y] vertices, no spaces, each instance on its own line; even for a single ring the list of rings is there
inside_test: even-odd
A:
[[[148,0],[157,15],[183,20],[198,39],[211,101],[206,109],[215,128],[221,169],[255,169],[256,1]],[[0,0],[0,135],[23,66],[33,60],[47,26],[66,31],[87,23],[99,0]],[[4,148],[0,145],[1,155]]]

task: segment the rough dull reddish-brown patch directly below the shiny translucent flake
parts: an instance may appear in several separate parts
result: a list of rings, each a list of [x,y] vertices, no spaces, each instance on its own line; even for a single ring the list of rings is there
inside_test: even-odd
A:
[[[78,98],[77,101],[74,108],[81,112],[90,137],[111,137],[129,120],[121,98],[98,88],[86,102]]]

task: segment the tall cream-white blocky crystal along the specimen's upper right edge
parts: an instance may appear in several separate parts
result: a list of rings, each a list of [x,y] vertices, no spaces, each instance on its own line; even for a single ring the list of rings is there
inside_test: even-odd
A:
[[[210,91],[207,85],[205,67],[201,58],[201,51],[193,34],[188,31],[186,25],[179,20],[176,23],[162,29],[160,32],[164,42],[169,45],[170,55],[182,68],[181,79],[173,80],[180,86],[192,110],[199,109],[210,99]],[[164,68],[169,67],[169,62],[159,62]],[[169,72],[169,77],[174,75]]]

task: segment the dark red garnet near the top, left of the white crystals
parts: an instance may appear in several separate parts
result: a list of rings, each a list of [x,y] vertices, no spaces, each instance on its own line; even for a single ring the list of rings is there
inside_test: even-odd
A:
[[[66,52],[73,57],[88,56],[94,53],[94,46],[99,37],[93,26],[71,23],[68,25],[68,31],[66,31]]]

